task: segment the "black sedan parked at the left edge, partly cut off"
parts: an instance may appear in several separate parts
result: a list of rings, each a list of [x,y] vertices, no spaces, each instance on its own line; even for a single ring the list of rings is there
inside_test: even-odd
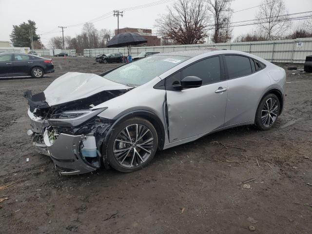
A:
[[[41,78],[51,72],[54,72],[52,59],[21,53],[0,53],[0,77]]]

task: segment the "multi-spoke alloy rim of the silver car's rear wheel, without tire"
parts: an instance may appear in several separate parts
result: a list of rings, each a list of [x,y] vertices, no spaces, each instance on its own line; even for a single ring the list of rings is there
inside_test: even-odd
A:
[[[278,102],[275,98],[266,100],[261,110],[261,122],[265,127],[270,127],[278,115]]]

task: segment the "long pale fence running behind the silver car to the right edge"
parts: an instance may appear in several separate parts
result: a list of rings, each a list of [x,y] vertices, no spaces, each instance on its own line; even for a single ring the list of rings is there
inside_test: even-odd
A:
[[[132,47],[131,55],[134,57],[144,51],[172,52],[179,50],[194,50],[205,47],[216,47],[218,49],[243,51],[259,56],[260,58],[271,62],[303,63],[306,59],[306,56],[312,55],[312,38],[216,44]],[[119,47],[83,50],[85,57],[96,57],[98,54],[118,52],[127,55],[128,49],[127,47]]]

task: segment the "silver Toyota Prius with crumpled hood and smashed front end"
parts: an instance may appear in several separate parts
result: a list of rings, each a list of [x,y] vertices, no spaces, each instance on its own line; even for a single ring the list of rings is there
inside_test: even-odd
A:
[[[62,175],[133,172],[158,150],[240,125],[271,129],[284,105],[284,69],[215,49],[139,59],[100,75],[70,72],[25,91],[33,145]]]

